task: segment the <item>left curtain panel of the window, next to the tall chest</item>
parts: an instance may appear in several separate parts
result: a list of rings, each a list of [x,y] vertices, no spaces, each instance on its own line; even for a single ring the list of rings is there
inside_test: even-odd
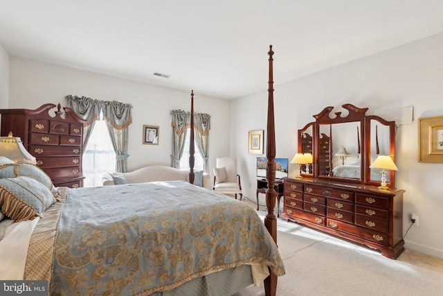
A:
[[[103,101],[94,100],[93,98],[87,98],[82,96],[66,96],[68,101],[68,107],[71,108],[75,114],[86,122],[83,125],[83,147],[86,148],[91,132],[96,124],[96,121],[100,119],[100,110],[102,108]]]

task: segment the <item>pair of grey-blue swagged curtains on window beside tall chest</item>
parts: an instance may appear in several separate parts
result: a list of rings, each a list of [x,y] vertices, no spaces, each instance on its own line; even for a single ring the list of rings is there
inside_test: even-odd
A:
[[[116,152],[116,172],[127,172],[129,125],[132,123],[132,105],[117,101],[99,101],[84,96],[66,96],[70,107],[80,118],[86,120],[83,128],[83,147],[91,137],[91,132],[96,121],[100,120],[100,111],[107,123]]]

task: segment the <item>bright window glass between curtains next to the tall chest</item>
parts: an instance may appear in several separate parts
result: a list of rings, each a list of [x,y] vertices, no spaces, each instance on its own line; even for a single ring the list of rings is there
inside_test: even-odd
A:
[[[103,120],[96,121],[94,125],[83,153],[82,168],[85,187],[102,186],[103,175],[116,171],[116,153]]]

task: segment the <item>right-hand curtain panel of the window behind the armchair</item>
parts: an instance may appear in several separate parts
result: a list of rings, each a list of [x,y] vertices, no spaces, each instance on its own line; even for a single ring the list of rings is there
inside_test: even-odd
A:
[[[194,113],[194,130],[197,148],[201,158],[203,158],[203,170],[208,173],[210,115],[206,113]]]

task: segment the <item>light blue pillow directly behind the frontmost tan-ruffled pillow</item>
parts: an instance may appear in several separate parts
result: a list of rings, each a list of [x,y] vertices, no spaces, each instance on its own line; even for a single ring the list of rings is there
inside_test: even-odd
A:
[[[35,164],[30,164],[28,162],[22,162],[20,164],[5,164],[0,166],[0,178],[12,178],[12,177],[32,177],[38,182],[44,184],[52,192],[55,191],[55,186],[51,177],[49,177],[42,168],[39,168]]]

